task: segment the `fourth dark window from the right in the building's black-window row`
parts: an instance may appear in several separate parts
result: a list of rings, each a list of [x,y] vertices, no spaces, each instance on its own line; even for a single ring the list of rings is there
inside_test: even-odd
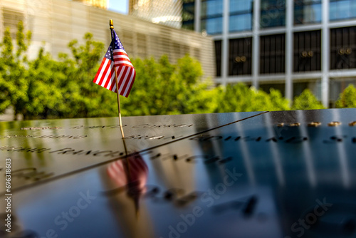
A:
[[[251,75],[252,38],[230,39],[229,76]]]

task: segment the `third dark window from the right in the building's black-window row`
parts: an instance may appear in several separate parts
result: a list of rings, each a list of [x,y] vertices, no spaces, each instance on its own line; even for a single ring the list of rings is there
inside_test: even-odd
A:
[[[278,34],[260,38],[260,73],[284,73],[286,35]]]

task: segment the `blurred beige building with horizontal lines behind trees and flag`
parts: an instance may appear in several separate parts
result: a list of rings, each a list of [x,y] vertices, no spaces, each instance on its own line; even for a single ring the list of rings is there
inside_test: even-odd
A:
[[[167,54],[169,60],[176,63],[189,53],[200,61],[204,76],[214,78],[211,37],[118,14],[108,11],[107,7],[108,1],[103,0],[1,0],[0,38],[9,27],[15,39],[17,24],[23,21],[25,29],[32,32],[29,58],[36,58],[41,47],[56,58],[58,53],[70,53],[68,43],[73,39],[83,43],[86,32],[93,33],[95,41],[102,41],[108,47],[111,41],[109,19],[113,19],[115,31],[130,57],[159,58]]]

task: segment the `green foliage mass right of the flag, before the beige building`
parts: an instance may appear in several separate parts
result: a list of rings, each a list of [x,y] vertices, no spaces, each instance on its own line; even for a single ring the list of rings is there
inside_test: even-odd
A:
[[[186,55],[176,64],[168,56],[132,60],[136,80],[122,100],[123,115],[164,115],[212,112],[209,83],[202,83],[200,63]],[[210,110],[210,111],[209,111]]]

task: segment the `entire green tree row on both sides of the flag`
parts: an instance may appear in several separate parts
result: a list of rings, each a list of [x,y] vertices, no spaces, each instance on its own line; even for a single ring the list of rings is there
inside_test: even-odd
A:
[[[24,119],[87,118],[117,115],[116,95],[93,83],[103,58],[103,43],[85,33],[84,43],[70,41],[70,54],[54,60],[43,48],[28,61],[26,50],[31,33],[23,33],[20,22],[16,51],[10,30],[1,45],[0,112],[10,105]],[[189,56],[177,63],[167,56],[132,61],[137,80],[130,98],[122,98],[123,115],[162,115],[211,112],[215,90],[201,83],[200,63]]]

